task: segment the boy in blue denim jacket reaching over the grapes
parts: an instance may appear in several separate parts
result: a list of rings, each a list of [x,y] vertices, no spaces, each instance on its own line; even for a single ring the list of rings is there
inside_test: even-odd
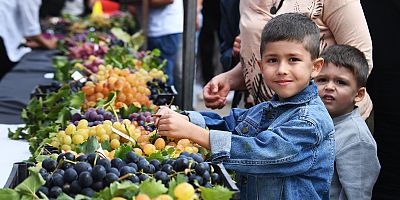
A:
[[[323,65],[319,29],[306,16],[282,14],[261,39],[258,64],[275,91],[271,101],[225,117],[163,108],[158,132],[211,149],[213,161],[236,171],[241,199],[329,199],[334,127],[312,81]]]

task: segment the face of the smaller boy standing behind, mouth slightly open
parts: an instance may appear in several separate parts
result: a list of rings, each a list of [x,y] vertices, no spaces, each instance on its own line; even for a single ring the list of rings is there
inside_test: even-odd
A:
[[[331,117],[350,113],[354,104],[364,97],[365,88],[357,86],[356,77],[349,69],[332,63],[325,64],[315,78],[318,94]]]

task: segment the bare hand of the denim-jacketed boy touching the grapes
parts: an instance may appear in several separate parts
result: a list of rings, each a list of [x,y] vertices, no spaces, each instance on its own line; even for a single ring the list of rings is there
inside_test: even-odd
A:
[[[176,139],[190,139],[189,131],[193,128],[193,126],[196,125],[190,123],[187,120],[184,120],[179,115],[181,114],[178,114],[176,112],[163,114],[156,124],[156,126],[158,127],[158,134],[160,134],[161,136],[167,136]]]

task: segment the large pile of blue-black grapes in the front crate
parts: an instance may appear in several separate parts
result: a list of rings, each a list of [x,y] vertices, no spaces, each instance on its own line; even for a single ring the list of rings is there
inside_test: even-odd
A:
[[[166,187],[177,174],[197,188],[211,188],[221,184],[222,177],[204,162],[200,154],[182,152],[176,159],[147,161],[134,152],[128,152],[125,159],[100,158],[96,153],[75,158],[71,152],[62,153],[57,161],[46,158],[39,173],[46,181],[38,189],[50,198],[57,198],[62,192],[74,197],[83,194],[92,197],[115,181],[128,180],[139,184],[146,179],[160,180]]]

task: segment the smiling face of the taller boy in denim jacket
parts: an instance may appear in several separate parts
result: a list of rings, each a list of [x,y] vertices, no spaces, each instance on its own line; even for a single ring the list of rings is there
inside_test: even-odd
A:
[[[278,96],[286,99],[305,89],[321,69],[323,59],[311,59],[302,43],[269,42],[259,66],[264,81]]]

